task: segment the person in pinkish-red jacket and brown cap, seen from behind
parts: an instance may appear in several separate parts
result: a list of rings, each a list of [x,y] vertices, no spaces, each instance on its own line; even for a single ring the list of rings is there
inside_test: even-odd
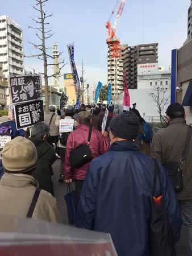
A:
[[[72,179],[74,180],[77,198],[79,199],[82,184],[84,182],[89,163],[85,164],[79,169],[72,169],[70,165],[69,156],[73,148],[79,146],[80,144],[87,143],[91,123],[90,112],[80,112],[78,114],[78,123],[80,125],[75,127],[75,130],[69,134],[68,142],[66,144],[64,177],[66,183],[72,182]],[[95,130],[95,128],[92,127],[89,147],[91,154],[93,155],[93,159],[97,158],[97,156],[99,155],[105,154],[108,148],[110,147],[110,142],[107,138],[107,135],[108,133],[106,133],[105,131],[103,131],[102,134],[100,131]]]

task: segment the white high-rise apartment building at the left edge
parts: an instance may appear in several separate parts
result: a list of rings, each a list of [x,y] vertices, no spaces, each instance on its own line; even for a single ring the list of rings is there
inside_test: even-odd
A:
[[[6,15],[0,15],[0,64],[3,77],[23,75],[23,32],[19,24]]]

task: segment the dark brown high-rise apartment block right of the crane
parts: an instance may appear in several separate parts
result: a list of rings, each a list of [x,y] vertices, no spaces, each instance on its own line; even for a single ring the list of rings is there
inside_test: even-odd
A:
[[[138,46],[123,44],[122,60],[128,88],[137,89],[137,64],[158,63],[158,43]]]

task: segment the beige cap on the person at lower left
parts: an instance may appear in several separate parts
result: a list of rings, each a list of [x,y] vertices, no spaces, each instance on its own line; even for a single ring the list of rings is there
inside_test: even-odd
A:
[[[34,143],[21,136],[7,142],[1,155],[3,168],[8,172],[27,172],[35,169],[37,164]]]

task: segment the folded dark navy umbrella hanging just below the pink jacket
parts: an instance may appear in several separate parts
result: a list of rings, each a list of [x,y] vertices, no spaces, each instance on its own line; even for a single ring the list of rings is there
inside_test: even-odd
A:
[[[76,220],[77,212],[77,194],[76,191],[72,189],[70,183],[67,184],[67,194],[64,196],[66,207],[68,209],[68,220],[70,224],[74,224]]]

